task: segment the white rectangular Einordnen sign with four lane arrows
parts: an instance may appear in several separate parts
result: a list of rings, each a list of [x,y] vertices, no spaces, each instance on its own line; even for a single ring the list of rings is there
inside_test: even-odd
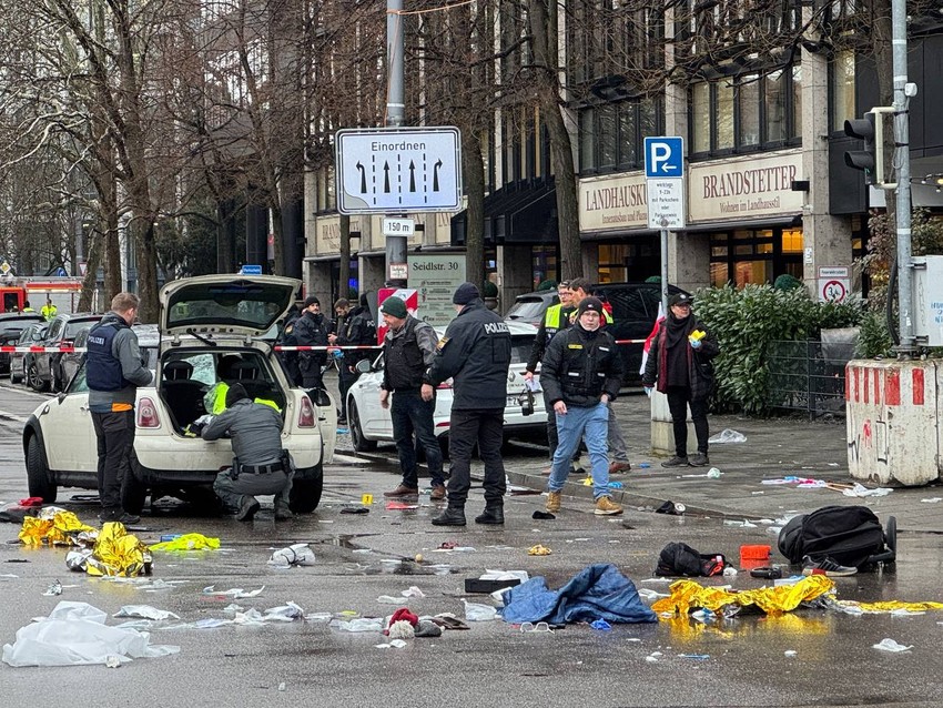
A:
[[[452,212],[462,208],[457,128],[344,129],[334,140],[342,214]]]

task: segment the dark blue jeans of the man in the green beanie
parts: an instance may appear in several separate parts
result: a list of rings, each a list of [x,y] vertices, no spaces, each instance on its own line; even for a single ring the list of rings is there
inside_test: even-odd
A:
[[[426,464],[433,486],[445,486],[442,476],[442,447],[433,432],[433,413],[436,399],[423,401],[419,390],[394,391],[393,403],[389,406],[389,417],[393,422],[393,437],[396,451],[399,453],[399,468],[403,469],[403,486],[410,489],[419,487],[419,476],[416,472],[416,449],[422,447],[426,453]],[[413,441],[415,433],[416,439]]]

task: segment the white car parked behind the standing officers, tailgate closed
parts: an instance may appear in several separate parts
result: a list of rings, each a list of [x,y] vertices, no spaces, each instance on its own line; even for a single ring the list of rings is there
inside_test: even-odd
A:
[[[510,330],[511,358],[507,377],[505,437],[546,436],[547,412],[544,406],[544,395],[536,393],[533,396],[534,411],[529,415],[525,415],[520,401],[525,391],[524,371],[527,366],[527,358],[530,356],[537,328],[517,322],[508,322],[507,325]],[[443,333],[444,331],[437,331],[439,336]],[[537,380],[538,377],[535,377],[535,381]],[[347,423],[351,429],[351,441],[357,452],[375,449],[378,442],[394,439],[389,408],[379,405],[381,383],[383,383],[383,355],[372,363],[369,372],[362,374],[347,392]],[[448,434],[452,399],[452,382],[449,381],[440,385],[436,392],[433,424],[435,434],[439,438]]]

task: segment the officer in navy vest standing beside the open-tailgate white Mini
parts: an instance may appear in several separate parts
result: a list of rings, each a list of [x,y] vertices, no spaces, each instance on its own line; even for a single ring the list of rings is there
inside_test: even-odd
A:
[[[134,446],[135,390],[154,381],[154,374],[141,362],[138,335],[131,328],[139,303],[133,293],[118,293],[111,301],[111,312],[89,331],[85,380],[98,439],[102,522],[141,520],[121,505],[121,487],[132,474],[129,456]]]

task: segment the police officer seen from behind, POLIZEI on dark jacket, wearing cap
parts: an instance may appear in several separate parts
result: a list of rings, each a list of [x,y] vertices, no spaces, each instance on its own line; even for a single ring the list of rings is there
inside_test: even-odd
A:
[[[485,464],[485,512],[476,524],[504,524],[505,468],[501,461],[510,331],[488,310],[474,283],[463,283],[452,299],[458,315],[445,332],[429,383],[452,378],[454,397],[448,428],[448,507],[435,526],[465,526],[465,502],[472,486],[472,448]],[[429,387],[429,394],[432,387]],[[426,395],[426,390],[423,390]]]

